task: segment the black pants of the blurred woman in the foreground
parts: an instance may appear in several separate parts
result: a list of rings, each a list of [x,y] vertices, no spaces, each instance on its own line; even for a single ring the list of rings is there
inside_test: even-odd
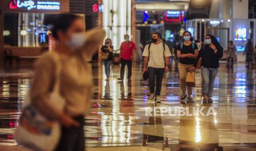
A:
[[[79,127],[62,127],[61,140],[56,151],[84,151],[84,116],[74,118],[80,124]]]

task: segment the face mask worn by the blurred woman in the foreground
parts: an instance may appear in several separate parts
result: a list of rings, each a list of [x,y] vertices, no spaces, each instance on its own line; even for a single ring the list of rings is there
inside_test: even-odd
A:
[[[83,47],[84,42],[85,42],[84,32],[73,33],[68,42],[68,46],[70,48],[77,49],[77,48]]]

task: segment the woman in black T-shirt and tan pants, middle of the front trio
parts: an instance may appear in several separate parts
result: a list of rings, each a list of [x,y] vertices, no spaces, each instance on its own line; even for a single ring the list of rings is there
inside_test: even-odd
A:
[[[193,42],[192,34],[189,31],[183,33],[184,42],[178,45],[177,56],[179,58],[178,70],[179,70],[179,80],[181,82],[181,103],[186,103],[186,98],[189,103],[193,103],[192,87],[186,85],[186,78],[189,72],[189,68],[194,65],[195,58],[198,55],[198,46]],[[188,95],[186,94],[188,91]]]

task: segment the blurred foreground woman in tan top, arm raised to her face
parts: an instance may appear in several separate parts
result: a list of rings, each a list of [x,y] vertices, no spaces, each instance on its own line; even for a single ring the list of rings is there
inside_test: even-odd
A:
[[[56,150],[85,150],[84,113],[90,108],[91,67],[86,59],[105,36],[97,29],[85,33],[83,19],[73,14],[59,14],[52,29],[57,48],[36,62],[31,103],[46,118],[62,125],[62,135]],[[89,61],[89,60],[88,60]],[[57,69],[60,72],[57,73]],[[65,100],[64,111],[53,105],[50,94],[59,80],[59,94]]]

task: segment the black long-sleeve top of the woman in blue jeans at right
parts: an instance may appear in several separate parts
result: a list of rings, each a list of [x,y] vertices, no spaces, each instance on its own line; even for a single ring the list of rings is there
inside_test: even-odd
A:
[[[208,45],[204,45],[198,53],[194,67],[197,66],[198,60],[202,57],[201,65],[207,68],[219,68],[219,60],[223,57],[223,49],[216,48],[217,52],[211,49]]]

